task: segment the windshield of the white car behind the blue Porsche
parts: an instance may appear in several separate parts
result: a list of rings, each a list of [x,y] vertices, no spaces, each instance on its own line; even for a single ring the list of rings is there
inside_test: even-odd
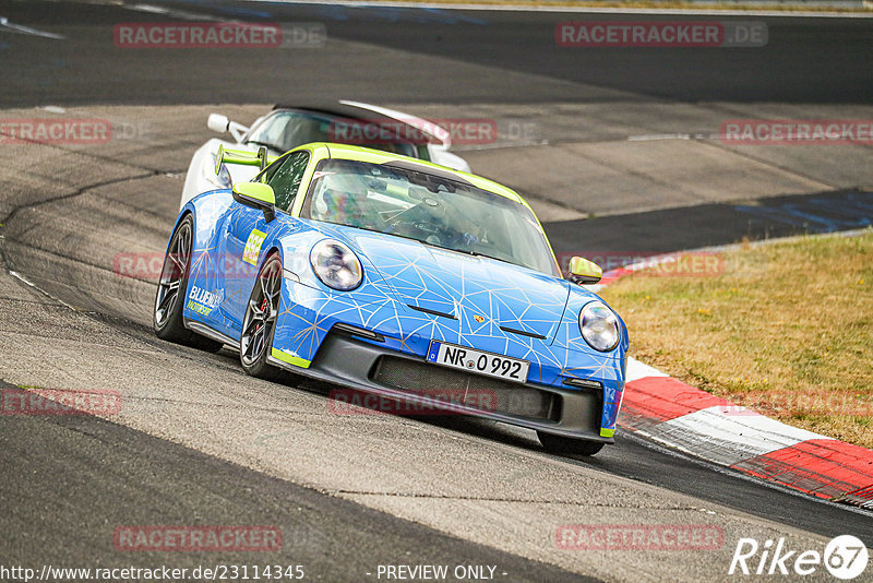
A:
[[[279,154],[312,142],[338,142],[421,157],[414,143],[384,140],[384,132],[375,132],[380,134],[376,143],[368,140],[363,132],[348,131],[349,127],[370,129],[368,124],[374,126],[374,122],[355,121],[309,111],[277,111],[259,123],[247,138],[247,142],[265,145]]]

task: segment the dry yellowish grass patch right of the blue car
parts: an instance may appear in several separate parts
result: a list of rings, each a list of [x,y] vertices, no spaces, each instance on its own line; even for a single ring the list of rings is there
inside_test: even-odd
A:
[[[706,277],[620,279],[601,293],[631,354],[718,396],[873,449],[873,231],[723,253]]]

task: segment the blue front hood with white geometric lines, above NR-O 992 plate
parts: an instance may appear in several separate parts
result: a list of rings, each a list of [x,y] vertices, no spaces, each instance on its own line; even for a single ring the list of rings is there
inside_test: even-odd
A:
[[[554,338],[570,294],[563,279],[392,235],[335,230],[410,309],[455,318],[466,330]]]

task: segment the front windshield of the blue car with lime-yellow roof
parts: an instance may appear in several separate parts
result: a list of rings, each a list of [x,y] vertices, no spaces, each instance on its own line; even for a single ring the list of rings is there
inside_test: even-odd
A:
[[[559,275],[529,209],[442,176],[346,159],[322,160],[302,215]]]

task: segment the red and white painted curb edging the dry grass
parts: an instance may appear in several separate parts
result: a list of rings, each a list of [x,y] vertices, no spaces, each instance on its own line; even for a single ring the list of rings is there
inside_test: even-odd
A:
[[[679,254],[658,259],[674,261]],[[650,260],[646,264],[651,266]],[[635,269],[605,274],[603,285]],[[756,478],[873,508],[873,451],[770,419],[633,358],[627,360],[619,425]]]

